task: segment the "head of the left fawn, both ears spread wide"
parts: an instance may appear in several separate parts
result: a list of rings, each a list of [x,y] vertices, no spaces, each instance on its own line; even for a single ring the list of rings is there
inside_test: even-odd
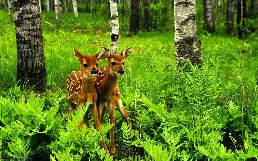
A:
[[[80,69],[81,69],[81,74],[83,77],[91,77],[91,76],[97,76],[98,74],[98,62],[104,60],[108,54],[110,54],[109,50],[104,50],[95,56],[93,55],[83,55],[81,54],[74,46],[73,46],[73,51],[75,54],[75,57],[79,60],[80,62]]]

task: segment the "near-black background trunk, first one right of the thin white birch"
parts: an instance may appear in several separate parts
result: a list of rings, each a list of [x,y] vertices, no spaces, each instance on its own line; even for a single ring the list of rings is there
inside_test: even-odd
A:
[[[139,30],[139,1],[131,0],[130,13],[130,32],[137,32]]]

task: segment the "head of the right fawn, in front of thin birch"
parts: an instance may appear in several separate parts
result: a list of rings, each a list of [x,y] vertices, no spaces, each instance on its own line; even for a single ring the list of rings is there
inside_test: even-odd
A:
[[[108,50],[106,47],[102,46],[102,50]],[[107,54],[107,63],[110,68],[110,74],[114,74],[116,76],[121,76],[124,74],[124,59],[128,58],[131,54],[132,47],[125,49],[121,52],[121,54],[113,54],[110,52]]]

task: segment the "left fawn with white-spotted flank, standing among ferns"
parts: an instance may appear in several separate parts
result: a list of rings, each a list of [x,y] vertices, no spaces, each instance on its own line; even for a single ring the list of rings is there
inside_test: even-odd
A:
[[[107,55],[110,55],[110,51],[104,50],[95,56],[85,55],[83,56],[74,46],[73,46],[75,57],[80,62],[81,71],[73,71],[67,78],[67,99],[70,105],[70,117],[72,119],[72,111],[74,108],[83,108],[86,102],[89,102],[89,109],[91,110],[94,125],[97,129],[101,128],[102,125],[99,121],[98,111],[97,111],[97,93],[95,89],[95,76],[97,76],[98,62],[104,60]],[[85,111],[84,121],[87,127],[89,127],[88,121],[88,111]],[[82,121],[79,122],[78,129],[82,128]],[[107,146],[105,140],[101,141],[103,148],[107,151]],[[110,154],[109,154],[110,155]]]

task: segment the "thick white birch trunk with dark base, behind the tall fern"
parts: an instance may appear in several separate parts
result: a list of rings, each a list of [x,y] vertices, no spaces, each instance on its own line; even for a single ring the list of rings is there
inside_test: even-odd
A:
[[[175,55],[178,65],[184,65],[185,59],[192,64],[202,61],[200,42],[196,28],[196,1],[175,0]]]

